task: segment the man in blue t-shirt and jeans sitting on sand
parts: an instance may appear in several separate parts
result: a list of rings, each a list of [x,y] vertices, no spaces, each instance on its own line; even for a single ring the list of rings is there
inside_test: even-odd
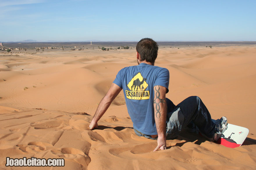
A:
[[[216,123],[202,100],[197,96],[186,98],[177,106],[166,98],[169,86],[169,71],[154,66],[158,45],[149,38],[136,45],[138,65],[120,70],[109,91],[102,98],[89,125],[97,128],[97,122],[111,102],[123,89],[129,116],[138,136],[157,140],[158,149],[166,149],[166,139],[174,139],[188,125],[196,126],[208,140],[218,140],[226,129],[227,118]]]

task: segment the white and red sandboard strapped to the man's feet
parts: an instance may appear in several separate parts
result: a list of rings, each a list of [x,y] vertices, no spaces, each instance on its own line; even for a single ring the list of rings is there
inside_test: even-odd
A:
[[[248,134],[249,129],[228,123],[227,129],[216,142],[225,147],[235,148],[243,144]]]

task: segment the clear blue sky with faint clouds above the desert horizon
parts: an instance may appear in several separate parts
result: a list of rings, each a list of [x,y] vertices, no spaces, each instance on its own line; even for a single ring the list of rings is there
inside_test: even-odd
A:
[[[0,41],[256,41],[255,0],[0,0]]]

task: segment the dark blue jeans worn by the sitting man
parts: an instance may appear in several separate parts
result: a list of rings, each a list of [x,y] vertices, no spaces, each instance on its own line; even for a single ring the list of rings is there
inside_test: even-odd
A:
[[[211,115],[198,96],[191,96],[183,100],[177,106],[166,98],[167,119],[166,119],[166,139],[176,138],[184,127],[198,127],[199,131],[212,138],[214,136],[215,124],[211,120]],[[145,135],[134,129],[138,136],[149,139],[157,139],[155,136]]]

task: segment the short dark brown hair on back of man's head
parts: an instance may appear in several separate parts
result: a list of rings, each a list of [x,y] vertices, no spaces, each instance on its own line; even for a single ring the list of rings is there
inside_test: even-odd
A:
[[[140,54],[141,60],[154,63],[157,58],[157,42],[150,38],[143,38],[136,45],[136,51]]]

